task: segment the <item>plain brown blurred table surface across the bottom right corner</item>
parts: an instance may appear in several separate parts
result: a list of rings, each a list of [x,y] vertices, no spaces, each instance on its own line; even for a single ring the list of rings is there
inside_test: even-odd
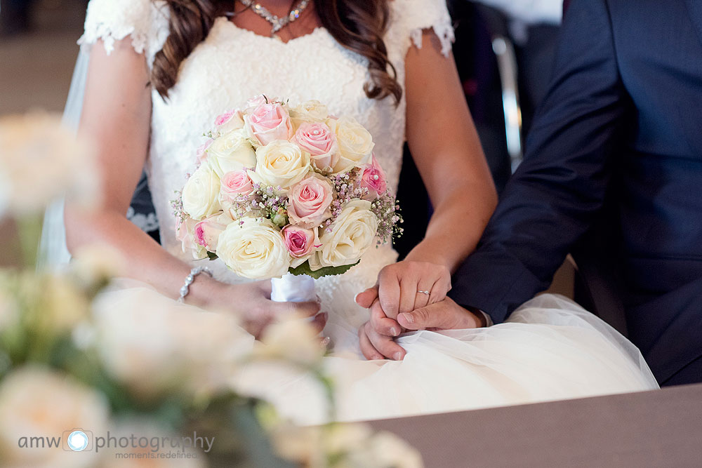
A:
[[[427,468],[702,467],[702,384],[372,425]]]

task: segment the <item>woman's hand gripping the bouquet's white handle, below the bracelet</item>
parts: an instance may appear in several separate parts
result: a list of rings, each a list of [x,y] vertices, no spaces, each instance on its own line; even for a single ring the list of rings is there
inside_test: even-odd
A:
[[[211,297],[208,305],[233,308],[241,317],[244,328],[256,338],[276,319],[292,315],[314,317],[314,328],[322,332],[329,315],[326,312],[319,313],[317,302],[275,302],[270,300],[270,290],[270,281],[223,285]]]

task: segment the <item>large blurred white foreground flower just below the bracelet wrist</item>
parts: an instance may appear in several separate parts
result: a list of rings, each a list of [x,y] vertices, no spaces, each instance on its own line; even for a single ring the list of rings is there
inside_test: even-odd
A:
[[[234,314],[201,312],[150,288],[107,291],[94,308],[105,368],[140,396],[228,388],[253,347]]]

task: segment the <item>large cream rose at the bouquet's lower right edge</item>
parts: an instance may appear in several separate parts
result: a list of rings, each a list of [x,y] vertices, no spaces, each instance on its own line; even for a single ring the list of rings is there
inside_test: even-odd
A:
[[[322,248],[310,258],[310,267],[317,270],[356,263],[376,242],[377,230],[378,218],[371,211],[370,201],[346,203],[331,225],[331,232],[324,229],[319,236]]]

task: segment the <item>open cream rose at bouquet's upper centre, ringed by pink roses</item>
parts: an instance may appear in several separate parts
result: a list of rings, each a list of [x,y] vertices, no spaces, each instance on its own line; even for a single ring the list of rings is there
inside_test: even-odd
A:
[[[310,153],[285,140],[275,140],[256,149],[256,171],[249,172],[254,182],[280,187],[283,192],[312,171]]]

